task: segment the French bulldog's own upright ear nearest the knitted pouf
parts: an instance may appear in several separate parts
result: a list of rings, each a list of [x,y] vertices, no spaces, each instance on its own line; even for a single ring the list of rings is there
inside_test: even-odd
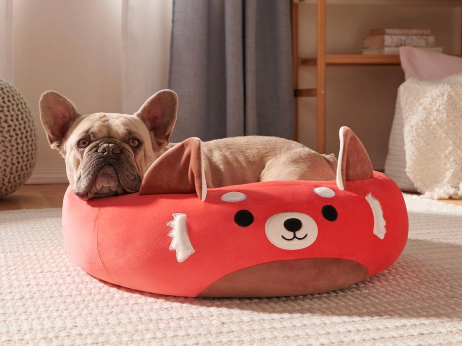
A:
[[[48,143],[53,149],[61,151],[63,139],[70,124],[80,116],[71,101],[54,91],[42,94],[38,102],[40,120],[47,133]]]

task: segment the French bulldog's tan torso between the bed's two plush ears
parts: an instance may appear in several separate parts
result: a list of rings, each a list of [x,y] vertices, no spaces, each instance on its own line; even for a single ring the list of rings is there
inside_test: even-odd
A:
[[[279,137],[245,136],[203,143],[208,187],[272,180],[335,180],[337,161]]]

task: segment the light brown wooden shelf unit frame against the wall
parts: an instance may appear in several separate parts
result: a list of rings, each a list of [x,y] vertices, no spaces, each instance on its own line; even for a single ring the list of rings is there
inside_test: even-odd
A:
[[[302,0],[303,1],[303,0]],[[423,0],[422,0],[423,1]],[[440,5],[432,5],[431,0],[427,6],[457,6],[462,9],[461,1],[441,1]],[[326,152],[326,66],[392,66],[400,65],[399,55],[363,55],[363,54],[326,54],[326,0],[317,0],[317,57],[300,59],[298,55],[298,6],[291,2],[292,22],[292,57],[295,97],[295,128],[294,138],[298,140],[298,97],[316,97],[316,136],[317,151]],[[389,5],[399,5],[399,2],[389,1]],[[406,4],[404,4],[406,5]],[[462,47],[462,46],[461,46]],[[462,48],[461,48],[462,49]],[[298,68],[303,66],[317,67],[316,89],[298,89]]]

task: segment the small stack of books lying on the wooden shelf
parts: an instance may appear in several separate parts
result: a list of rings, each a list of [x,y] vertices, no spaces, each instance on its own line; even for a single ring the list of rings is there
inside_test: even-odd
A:
[[[372,29],[364,38],[363,54],[399,54],[402,46],[418,47],[442,52],[436,47],[435,36],[430,29]]]

